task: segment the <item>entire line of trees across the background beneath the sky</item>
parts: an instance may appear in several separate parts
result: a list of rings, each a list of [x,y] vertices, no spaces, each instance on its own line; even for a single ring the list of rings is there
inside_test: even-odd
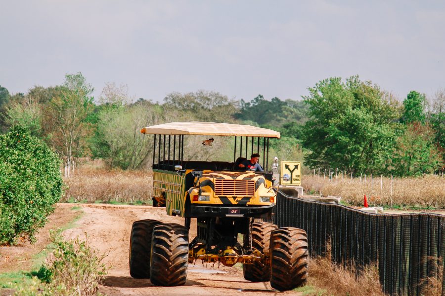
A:
[[[445,159],[445,90],[427,100],[411,91],[403,100],[358,76],[331,77],[309,87],[303,100],[262,95],[250,101],[212,91],[168,94],[162,102],[135,100],[125,85],[107,83],[100,96],[81,73],[61,85],[10,94],[0,86],[0,132],[19,125],[43,139],[69,176],[81,157],[108,167],[151,167],[152,137],[141,127],[172,121],[251,124],[278,130],[270,155],[302,159],[309,168],[337,167],[359,173],[412,176],[440,172]],[[202,151],[189,137],[185,159],[231,159],[230,139]]]

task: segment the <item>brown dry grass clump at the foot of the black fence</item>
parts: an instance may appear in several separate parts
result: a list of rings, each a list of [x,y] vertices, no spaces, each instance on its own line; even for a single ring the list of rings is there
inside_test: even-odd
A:
[[[337,265],[328,257],[309,261],[308,285],[315,288],[313,295],[385,296],[375,265],[365,267],[356,280],[354,267]]]

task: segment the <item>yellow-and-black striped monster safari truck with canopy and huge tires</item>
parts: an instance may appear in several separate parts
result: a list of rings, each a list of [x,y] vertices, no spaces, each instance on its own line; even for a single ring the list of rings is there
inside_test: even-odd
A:
[[[132,277],[179,286],[185,283],[188,263],[203,260],[242,263],[246,280],[270,281],[279,291],[306,284],[306,232],[263,222],[270,221],[276,202],[268,152],[269,138],[279,138],[278,132],[241,124],[172,122],[142,128],[141,133],[153,135],[153,206],[165,207],[167,215],[182,217],[184,223],[133,223]],[[187,135],[206,136],[196,145],[212,145],[214,136],[234,137],[233,160],[184,160]],[[262,155],[264,172],[238,166],[252,153]],[[189,243],[191,219],[196,219],[197,236]]]

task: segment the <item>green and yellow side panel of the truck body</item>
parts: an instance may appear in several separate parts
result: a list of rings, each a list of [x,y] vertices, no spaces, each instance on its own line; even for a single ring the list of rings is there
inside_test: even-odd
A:
[[[153,195],[161,196],[165,192],[166,212],[172,216],[183,213],[184,177],[176,172],[153,170]]]

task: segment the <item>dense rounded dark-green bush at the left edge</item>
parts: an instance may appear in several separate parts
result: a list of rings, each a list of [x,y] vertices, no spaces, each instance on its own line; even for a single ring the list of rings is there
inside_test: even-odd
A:
[[[33,239],[62,195],[60,160],[21,127],[0,136],[0,244]]]

